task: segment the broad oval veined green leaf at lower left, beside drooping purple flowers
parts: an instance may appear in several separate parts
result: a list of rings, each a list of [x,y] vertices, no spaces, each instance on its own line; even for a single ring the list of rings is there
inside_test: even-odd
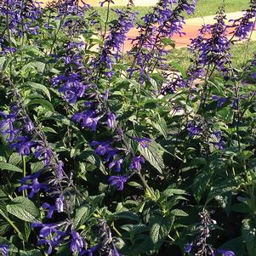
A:
[[[23,196],[15,197],[14,200],[7,205],[7,210],[17,218],[27,222],[37,221],[40,216],[35,204]]]

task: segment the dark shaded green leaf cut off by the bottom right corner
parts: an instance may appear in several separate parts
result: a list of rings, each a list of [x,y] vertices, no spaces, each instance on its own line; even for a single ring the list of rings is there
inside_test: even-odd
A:
[[[243,219],[242,221],[242,237],[247,246],[247,255],[256,255],[256,236],[255,225],[251,219]]]

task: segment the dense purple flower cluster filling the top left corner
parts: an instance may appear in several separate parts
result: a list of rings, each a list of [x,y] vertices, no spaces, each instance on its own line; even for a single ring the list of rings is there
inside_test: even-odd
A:
[[[10,37],[23,37],[27,35],[36,35],[38,32],[37,20],[43,14],[40,3],[33,0],[4,0],[0,2],[0,14],[2,16],[1,25],[3,34],[0,38],[1,53],[14,52],[11,47]]]

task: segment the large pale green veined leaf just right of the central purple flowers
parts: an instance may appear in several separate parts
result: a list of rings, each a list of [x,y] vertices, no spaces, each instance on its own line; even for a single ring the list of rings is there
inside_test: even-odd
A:
[[[147,147],[143,147],[139,144],[139,152],[145,159],[151,163],[151,165],[156,168],[160,174],[164,168],[164,162],[162,159],[163,151],[161,145],[158,145],[155,141],[147,144]]]

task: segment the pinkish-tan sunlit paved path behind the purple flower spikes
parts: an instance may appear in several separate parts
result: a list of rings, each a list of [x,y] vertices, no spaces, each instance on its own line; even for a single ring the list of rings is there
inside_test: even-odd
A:
[[[236,20],[242,17],[242,12],[230,13],[226,14],[227,20]],[[198,35],[198,30],[201,28],[203,24],[214,24],[216,20],[214,20],[213,16],[206,16],[203,18],[193,18],[185,20],[185,26],[183,32],[185,35],[179,37],[179,35],[175,35],[173,37],[174,42],[176,43],[176,48],[185,48],[191,44],[191,38],[195,38]],[[231,30],[230,30],[231,32]],[[128,38],[136,38],[138,36],[138,30],[136,28],[132,28],[128,32]],[[256,41],[256,27],[254,28],[252,40]],[[128,51],[132,48],[132,44],[130,41],[126,41],[124,44],[124,51]]]

